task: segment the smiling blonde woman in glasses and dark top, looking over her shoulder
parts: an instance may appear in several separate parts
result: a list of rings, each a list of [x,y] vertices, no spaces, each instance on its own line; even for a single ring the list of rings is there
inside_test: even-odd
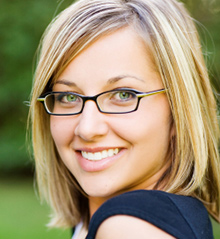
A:
[[[77,239],[88,228],[87,239],[213,238],[216,103],[181,3],[81,0],[64,10],[41,42],[30,114],[51,226],[78,225]]]

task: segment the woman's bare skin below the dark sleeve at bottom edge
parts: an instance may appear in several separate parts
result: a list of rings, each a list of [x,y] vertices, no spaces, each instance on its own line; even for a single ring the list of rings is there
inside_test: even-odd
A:
[[[117,215],[106,219],[99,227],[96,239],[175,239],[142,219]]]

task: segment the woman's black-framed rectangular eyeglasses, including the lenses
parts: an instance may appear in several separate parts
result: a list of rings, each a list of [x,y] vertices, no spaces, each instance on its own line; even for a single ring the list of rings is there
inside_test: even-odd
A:
[[[120,88],[94,96],[84,96],[73,92],[48,92],[37,100],[44,104],[45,110],[50,115],[80,114],[88,100],[94,101],[102,113],[126,114],[136,111],[143,97],[164,93],[166,90],[140,92],[130,88]]]

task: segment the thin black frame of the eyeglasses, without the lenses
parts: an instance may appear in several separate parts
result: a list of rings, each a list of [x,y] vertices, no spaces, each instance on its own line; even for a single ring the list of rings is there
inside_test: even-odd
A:
[[[136,96],[137,96],[137,105],[136,105],[136,108],[134,110],[130,110],[130,111],[126,111],[126,112],[106,112],[106,111],[103,111],[101,110],[98,102],[97,102],[97,98],[100,96],[100,95],[103,95],[103,94],[106,94],[106,93],[109,93],[109,92],[117,92],[117,91],[129,91],[129,92],[132,92],[134,93]],[[94,95],[94,96],[84,96],[84,95],[80,95],[80,94],[77,94],[77,93],[74,93],[74,92],[69,92],[69,91],[50,91],[50,92],[47,92],[43,95],[41,95],[40,97],[37,98],[37,101],[41,102],[43,105],[44,105],[44,108],[46,110],[46,112],[49,114],[49,115],[56,115],[56,116],[71,116],[71,115],[78,115],[78,114],[81,114],[83,112],[83,109],[84,109],[84,106],[85,106],[85,103],[86,101],[88,100],[92,100],[96,103],[96,106],[98,108],[98,110],[101,112],[101,113],[104,113],[104,114],[128,114],[128,113],[132,113],[134,111],[136,111],[139,107],[139,103],[140,103],[140,100],[143,98],[143,97],[146,97],[146,96],[151,96],[151,95],[156,95],[156,94],[160,94],[160,93],[164,93],[166,92],[167,89],[166,88],[163,88],[163,89],[159,89],[159,90],[154,90],[154,91],[148,91],[148,92],[141,92],[141,91],[138,91],[138,90],[134,90],[134,89],[131,89],[131,88],[119,88],[119,89],[115,89],[115,90],[109,90],[109,91],[105,91],[105,92],[101,92],[97,95]],[[77,112],[77,113],[71,113],[71,114],[57,114],[57,113],[52,113],[48,110],[47,106],[46,106],[46,103],[45,103],[45,100],[47,98],[48,95],[51,95],[51,94],[61,94],[61,93],[69,93],[69,94],[73,94],[73,95],[76,95],[78,97],[80,97],[82,99],[82,109],[81,111]]]

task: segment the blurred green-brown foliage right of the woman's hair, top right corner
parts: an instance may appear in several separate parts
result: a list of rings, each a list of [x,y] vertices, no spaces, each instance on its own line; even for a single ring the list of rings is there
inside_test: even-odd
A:
[[[197,29],[213,87],[220,93],[220,0],[183,0]]]

